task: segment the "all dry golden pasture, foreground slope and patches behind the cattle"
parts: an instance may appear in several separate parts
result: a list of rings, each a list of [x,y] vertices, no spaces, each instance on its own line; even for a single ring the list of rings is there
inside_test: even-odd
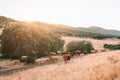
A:
[[[65,45],[73,40],[92,42],[96,50],[102,50],[105,43],[117,44],[117,39],[95,40],[90,38],[62,37]],[[13,61],[0,61],[0,67],[13,68],[35,65],[29,69],[19,70],[9,75],[0,75],[0,80],[120,80],[120,50],[98,52],[85,56],[75,56],[67,64],[58,56],[56,62],[49,63],[48,58],[37,62],[44,65],[24,63],[13,64]]]

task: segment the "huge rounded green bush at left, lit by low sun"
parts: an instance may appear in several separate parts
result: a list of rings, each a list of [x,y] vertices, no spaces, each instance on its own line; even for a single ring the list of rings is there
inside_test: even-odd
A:
[[[0,38],[2,53],[12,59],[47,56],[50,51],[61,50],[64,45],[60,36],[25,24],[5,28]]]

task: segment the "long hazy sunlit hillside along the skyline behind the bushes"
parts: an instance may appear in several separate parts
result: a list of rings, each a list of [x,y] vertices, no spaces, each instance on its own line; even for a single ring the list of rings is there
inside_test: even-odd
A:
[[[120,36],[120,31],[106,30],[99,27],[90,28],[74,28],[72,26],[62,25],[62,24],[48,24],[44,22],[25,22],[18,21],[4,16],[0,16],[0,27],[10,27],[15,25],[22,26],[38,26],[42,30],[53,32],[55,34],[66,35],[66,36],[77,36],[77,37],[90,37],[90,38],[114,38]]]

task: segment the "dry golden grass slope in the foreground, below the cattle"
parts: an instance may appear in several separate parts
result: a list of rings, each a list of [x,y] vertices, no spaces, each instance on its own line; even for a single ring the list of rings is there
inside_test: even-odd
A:
[[[0,80],[120,80],[120,50],[39,66]]]

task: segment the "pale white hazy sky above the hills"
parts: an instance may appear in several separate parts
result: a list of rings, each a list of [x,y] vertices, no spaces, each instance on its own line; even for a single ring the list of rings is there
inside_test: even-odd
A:
[[[0,0],[0,15],[17,20],[120,30],[120,0]]]

